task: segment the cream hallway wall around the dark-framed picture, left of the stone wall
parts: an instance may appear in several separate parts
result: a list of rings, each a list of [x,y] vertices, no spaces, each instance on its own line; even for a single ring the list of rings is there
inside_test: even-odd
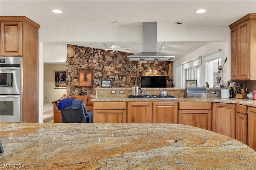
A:
[[[66,69],[66,64],[44,64],[44,102],[53,102],[67,94],[66,88],[54,88],[54,70]]]

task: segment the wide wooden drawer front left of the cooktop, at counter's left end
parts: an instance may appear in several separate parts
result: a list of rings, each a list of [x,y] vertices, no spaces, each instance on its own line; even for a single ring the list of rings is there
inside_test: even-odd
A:
[[[126,102],[94,102],[94,109],[126,109]]]

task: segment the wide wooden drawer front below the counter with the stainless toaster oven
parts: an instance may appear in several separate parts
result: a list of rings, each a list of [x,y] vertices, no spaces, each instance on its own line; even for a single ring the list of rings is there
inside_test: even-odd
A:
[[[211,110],[211,102],[180,102],[179,109],[183,110]]]

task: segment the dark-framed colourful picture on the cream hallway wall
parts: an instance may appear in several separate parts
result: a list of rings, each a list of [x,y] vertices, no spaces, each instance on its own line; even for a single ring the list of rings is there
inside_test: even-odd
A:
[[[67,71],[66,70],[53,70],[54,71],[54,88],[67,88]]]

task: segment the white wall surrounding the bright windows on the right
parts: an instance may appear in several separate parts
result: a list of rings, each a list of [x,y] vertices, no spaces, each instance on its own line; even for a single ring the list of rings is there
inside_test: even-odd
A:
[[[208,43],[206,45],[204,45],[203,47],[200,47],[199,49],[193,51],[192,53],[188,54],[188,55],[185,55],[184,57],[174,61],[173,63],[173,68],[174,68],[174,83],[175,84],[179,84],[179,83],[176,83],[177,81],[177,78],[176,78],[176,66],[179,66],[180,64],[182,63],[186,63],[188,61],[193,61],[194,59],[198,59],[199,56],[202,56],[202,55],[206,55],[208,53],[211,53],[213,51],[217,51],[218,49],[222,49],[221,51],[221,65],[223,65],[226,57],[228,57],[225,65],[224,65],[224,68],[223,68],[223,82],[226,82],[227,80],[230,80],[230,48],[229,48],[229,45],[228,45],[228,41],[225,41],[225,42],[218,42],[218,43]],[[202,66],[201,66],[201,69],[204,70],[205,68],[205,64],[204,64],[204,59],[202,59]],[[178,75],[181,75],[178,74]],[[201,72],[201,87],[203,85],[205,85],[205,72]],[[175,86],[175,87],[178,87],[178,86]]]

